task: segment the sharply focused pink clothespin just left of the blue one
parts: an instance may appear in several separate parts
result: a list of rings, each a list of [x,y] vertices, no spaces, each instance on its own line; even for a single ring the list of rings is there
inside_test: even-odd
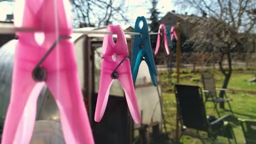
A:
[[[141,115],[132,82],[130,60],[128,58],[129,53],[124,31],[119,25],[109,25],[107,31],[117,34],[117,42],[114,43],[113,35],[111,34],[105,35],[103,39],[101,79],[94,119],[96,122],[101,121],[108,103],[110,86],[117,79],[124,88],[126,101],[133,120],[135,123],[140,123]]]

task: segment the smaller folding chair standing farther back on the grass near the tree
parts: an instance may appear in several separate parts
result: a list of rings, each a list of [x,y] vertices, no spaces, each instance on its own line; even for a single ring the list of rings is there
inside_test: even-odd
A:
[[[218,116],[219,116],[219,111],[217,109],[217,104],[219,104],[219,103],[224,103],[224,102],[228,103],[229,109],[232,112],[231,105],[229,103],[229,101],[231,101],[232,99],[228,99],[228,97],[226,96],[226,93],[225,93],[225,91],[228,91],[228,89],[216,88],[213,74],[202,74],[201,77],[202,77],[202,83],[203,83],[203,88],[204,88],[203,92],[205,92],[205,103],[207,101],[212,101],[214,104],[214,109],[216,109]],[[224,99],[218,98],[216,90],[224,91],[225,98]]]

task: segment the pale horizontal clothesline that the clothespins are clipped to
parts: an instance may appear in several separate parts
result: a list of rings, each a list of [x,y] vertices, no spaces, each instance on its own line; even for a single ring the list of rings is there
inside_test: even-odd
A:
[[[26,27],[0,27],[0,34],[13,34],[16,32],[41,32],[40,30],[36,28],[26,28]],[[86,31],[86,30],[79,30],[74,29],[72,31],[73,33],[82,33],[82,34],[115,34],[113,32],[107,32],[107,31]],[[125,34],[129,35],[142,35],[141,33],[135,33],[135,32],[124,32]],[[160,34],[160,33],[149,33],[149,35],[154,34]]]

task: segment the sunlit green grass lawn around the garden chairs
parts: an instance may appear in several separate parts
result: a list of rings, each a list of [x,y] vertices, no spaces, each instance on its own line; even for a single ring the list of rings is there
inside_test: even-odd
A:
[[[254,119],[256,120],[256,83],[248,83],[248,79],[253,77],[250,71],[244,70],[234,70],[229,82],[228,91],[226,94],[229,98],[233,99],[231,101],[232,110],[235,113],[235,117],[243,119]],[[189,70],[182,70],[180,83],[189,84],[189,85],[199,85],[202,87],[200,73],[190,73]],[[163,105],[164,105],[164,114],[166,119],[167,130],[170,131],[170,137],[174,140],[175,130],[176,130],[176,99],[173,93],[173,85],[170,84],[168,79],[167,71],[159,71],[162,92],[163,92]],[[171,83],[176,82],[176,74],[172,74]],[[216,79],[216,86],[221,87],[224,76],[219,72],[215,71],[214,78]],[[226,105],[226,107],[228,107]],[[226,115],[229,112],[226,112],[222,109],[219,109],[220,115]],[[217,113],[213,110],[213,104],[208,102],[206,103],[206,113],[207,115],[214,115],[216,117]],[[234,132],[236,135],[237,143],[245,143],[245,138],[238,121],[234,122]],[[195,134],[195,130],[189,130],[189,133]],[[200,132],[202,137],[207,137],[205,132]],[[217,138],[219,143],[228,143],[228,140],[224,137]],[[204,140],[205,143],[210,143],[210,141]],[[233,142],[233,141],[231,141]],[[202,143],[201,140],[191,137],[183,136],[179,143]],[[233,142],[234,143],[234,142]]]

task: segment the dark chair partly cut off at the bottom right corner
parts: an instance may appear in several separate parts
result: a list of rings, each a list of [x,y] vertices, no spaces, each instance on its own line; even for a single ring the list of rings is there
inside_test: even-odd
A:
[[[241,122],[243,135],[245,135],[246,144],[256,143],[256,121],[245,120]]]

